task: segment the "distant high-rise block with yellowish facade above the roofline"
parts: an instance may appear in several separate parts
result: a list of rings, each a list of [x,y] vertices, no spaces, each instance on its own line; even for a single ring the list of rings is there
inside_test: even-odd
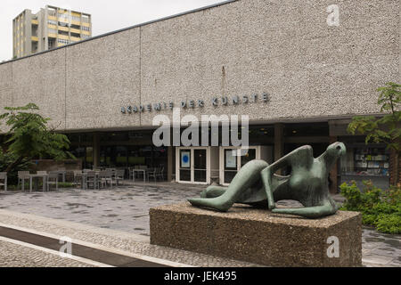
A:
[[[46,5],[12,20],[13,57],[20,58],[92,37],[91,15]]]

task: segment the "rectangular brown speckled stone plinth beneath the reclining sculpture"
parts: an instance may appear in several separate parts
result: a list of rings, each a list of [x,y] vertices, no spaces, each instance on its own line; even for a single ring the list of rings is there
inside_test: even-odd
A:
[[[339,211],[319,219],[235,205],[227,213],[189,203],[151,208],[151,244],[267,266],[361,266],[362,218]],[[329,257],[330,237],[339,257]]]

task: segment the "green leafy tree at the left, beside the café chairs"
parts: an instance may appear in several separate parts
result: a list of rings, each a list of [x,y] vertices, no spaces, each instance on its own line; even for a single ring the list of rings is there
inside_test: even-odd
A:
[[[4,110],[6,112],[0,116],[0,122],[5,120],[9,131],[5,134],[2,149],[12,153],[15,159],[3,171],[11,172],[24,160],[74,158],[66,151],[70,148],[67,136],[48,128],[50,118],[37,114],[37,105],[29,103],[24,107],[5,107]]]

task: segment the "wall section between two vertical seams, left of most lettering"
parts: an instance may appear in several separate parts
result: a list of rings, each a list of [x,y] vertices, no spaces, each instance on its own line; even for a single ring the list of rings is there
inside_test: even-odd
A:
[[[120,108],[140,102],[139,28],[67,48],[67,129],[140,126]]]

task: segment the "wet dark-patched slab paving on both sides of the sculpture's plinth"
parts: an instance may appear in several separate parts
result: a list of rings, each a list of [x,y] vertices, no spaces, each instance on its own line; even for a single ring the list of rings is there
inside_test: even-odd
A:
[[[0,209],[149,236],[150,208],[198,197],[203,189],[204,186],[176,183],[146,186],[126,183],[126,186],[101,191],[1,192]],[[293,201],[280,204],[297,206]],[[364,265],[401,266],[400,240],[400,235],[382,234],[364,227]]]

